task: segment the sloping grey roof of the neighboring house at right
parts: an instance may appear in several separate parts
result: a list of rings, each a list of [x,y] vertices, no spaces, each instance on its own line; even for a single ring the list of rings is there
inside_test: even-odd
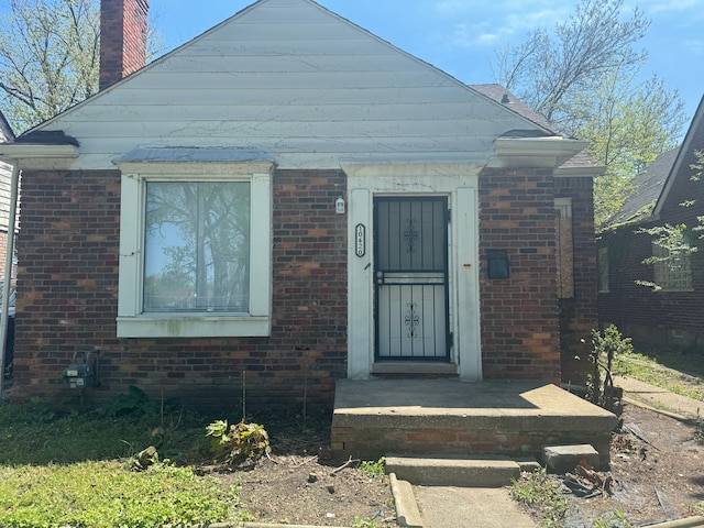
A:
[[[696,162],[695,151],[704,151],[704,97],[682,145],[660,154],[645,172],[634,178],[632,193],[604,227],[638,224],[658,218],[675,178],[692,177],[691,165]]]

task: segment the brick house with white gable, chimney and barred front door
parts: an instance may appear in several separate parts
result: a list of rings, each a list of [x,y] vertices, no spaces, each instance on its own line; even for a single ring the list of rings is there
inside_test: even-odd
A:
[[[124,4],[103,28],[143,33],[144,2]],[[596,326],[598,168],[495,85],[310,0],[261,0],[106,78],[0,147],[23,170],[16,396],[68,391],[58,374],[90,346],[100,397],[560,383],[561,348]]]

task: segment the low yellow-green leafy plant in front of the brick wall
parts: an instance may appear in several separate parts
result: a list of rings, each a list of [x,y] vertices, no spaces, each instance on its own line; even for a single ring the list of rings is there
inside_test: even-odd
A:
[[[222,458],[232,465],[254,462],[272,452],[268,433],[258,424],[245,424],[242,420],[228,427],[227,420],[217,420],[206,431],[206,436],[212,437],[210,449],[216,458]]]

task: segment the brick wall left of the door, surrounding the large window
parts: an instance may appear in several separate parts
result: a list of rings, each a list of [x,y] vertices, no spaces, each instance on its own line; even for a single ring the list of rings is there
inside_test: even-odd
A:
[[[331,405],[346,375],[345,216],[334,213],[340,172],[274,176],[270,338],[121,339],[116,336],[118,172],[25,173],[15,342],[15,395],[62,399],[77,349],[101,349],[108,399],[136,385],[152,397],[233,408],[245,372],[248,408]]]

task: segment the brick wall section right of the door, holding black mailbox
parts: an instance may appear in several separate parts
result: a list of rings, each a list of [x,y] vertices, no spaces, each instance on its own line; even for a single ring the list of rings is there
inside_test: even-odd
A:
[[[591,178],[484,170],[480,179],[482,354],[487,378],[583,384],[597,327]],[[558,299],[554,199],[572,199],[574,297]],[[510,277],[491,279],[487,250],[507,250]],[[575,361],[575,355],[580,356]]]

